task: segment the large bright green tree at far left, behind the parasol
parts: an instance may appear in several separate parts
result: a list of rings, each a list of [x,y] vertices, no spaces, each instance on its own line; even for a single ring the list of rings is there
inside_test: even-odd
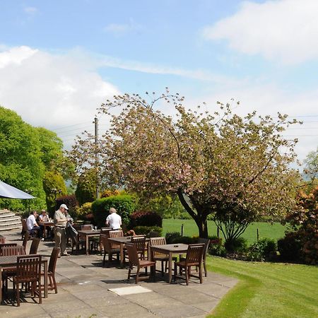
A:
[[[0,206],[45,208],[42,179],[50,168],[61,167],[62,147],[54,132],[26,124],[16,112],[0,107],[0,179],[36,197],[30,202],[0,200]]]

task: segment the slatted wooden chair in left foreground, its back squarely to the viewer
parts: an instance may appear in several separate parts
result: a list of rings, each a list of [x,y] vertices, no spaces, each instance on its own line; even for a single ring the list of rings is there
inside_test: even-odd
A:
[[[39,303],[42,304],[41,293],[41,261],[40,255],[18,256],[16,266],[16,276],[13,276],[13,289],[16,290],[16,301],[20,306],[20,283],[31,284],[31,297],[35,293],[39,297]]]

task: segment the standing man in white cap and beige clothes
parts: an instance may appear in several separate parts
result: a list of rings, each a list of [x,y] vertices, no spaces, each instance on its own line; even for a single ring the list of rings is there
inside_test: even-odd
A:
[[[66,204],[61,204],[59,210],[54,213],[54,239],[55,247],[61,248],[61,255],[69,256],[66,252],[66,223],[68,219],[66,218],[66,211],[69,208]]]

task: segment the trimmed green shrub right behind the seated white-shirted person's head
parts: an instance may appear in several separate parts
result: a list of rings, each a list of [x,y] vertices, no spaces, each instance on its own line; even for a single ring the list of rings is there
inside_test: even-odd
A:
[[[129,216],[135,210],[134,196],[125,194],[95,200],[92,204],[92,211],[98,228],[105,226],[110,208],[116,208],[117,213],[122,217],[122,223],[128,224]]]

